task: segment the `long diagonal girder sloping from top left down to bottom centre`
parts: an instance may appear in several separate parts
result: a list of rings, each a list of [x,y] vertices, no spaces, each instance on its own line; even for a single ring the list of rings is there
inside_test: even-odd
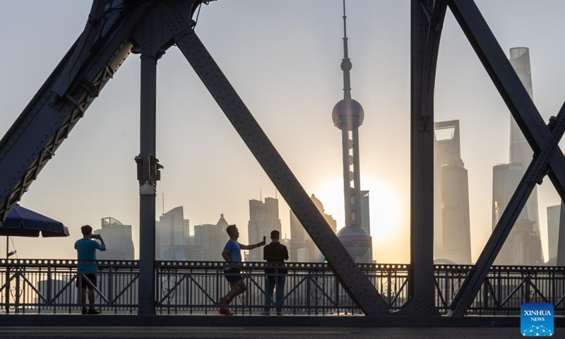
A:
[[[304,225],[322,254],[328,258],[331,270],[353,302],[367,316],[389,314],[388,307],[376,287],[371,284],[367,275],[347,253],[273,143],[270,142],[218,64],[190,27],[187,18],[180,15],[174,8],[165,5],[157,5],[156,9],[160,11],[162,21],[169,27],[169,30],[185,32],[184,35],[175,39],[177,46],[285,198],[298,220]]]

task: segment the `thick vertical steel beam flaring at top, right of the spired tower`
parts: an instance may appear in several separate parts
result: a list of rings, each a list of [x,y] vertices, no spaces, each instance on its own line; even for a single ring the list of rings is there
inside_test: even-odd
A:
[[[410,263],[412,300],[403,311],[439,315],[434,285],[434,81],[447,1],[411,3]]]

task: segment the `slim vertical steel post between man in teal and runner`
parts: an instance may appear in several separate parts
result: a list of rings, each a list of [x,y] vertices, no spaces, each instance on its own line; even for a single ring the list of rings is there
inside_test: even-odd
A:
[[[157,57],[141,54],[140,155],[147,174],[150,155],[156,152],[156,84]],[[139,186],[139,247],[138,315],[147,316],[155,314],[155,186],[151,180],[142,180]]]

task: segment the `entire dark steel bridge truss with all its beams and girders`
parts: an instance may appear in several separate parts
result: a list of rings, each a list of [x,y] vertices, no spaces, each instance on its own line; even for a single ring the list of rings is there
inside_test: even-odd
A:
[[[157,60],[173,44],[181,50],[227,119],[256,157],[328,261],[340,285],[367,316],[391,314],[382,295],[355,265],[290,168],[215,64],[194,32],[191,18],[203,0],[94,0],[88,22],[69,52],[0,141],[0,220],[4,220],[86,109],[131,52],[141,54],[141,152],[135,157],[140,184],[138,314],[155,314],[155,190],[160,168],[155,152]],[[489,274],[494,258],[533,186],[549,175],[565,198],[565,158],[557,147],[565,130],[561,108],[546,125],[472,0],[412,0],[411,233],[413,278],[408,306],[395,314],[439,314],[433,264],[434,81],[447,8],[482,61],[534,150],[534,159],[508,208],[465,275],[448,309],[465,314]],[[185,278],[186,279],[186,278]],[[19,281],[19,280],[18,280]],[[445,300],[445,297],[444,297]]]

